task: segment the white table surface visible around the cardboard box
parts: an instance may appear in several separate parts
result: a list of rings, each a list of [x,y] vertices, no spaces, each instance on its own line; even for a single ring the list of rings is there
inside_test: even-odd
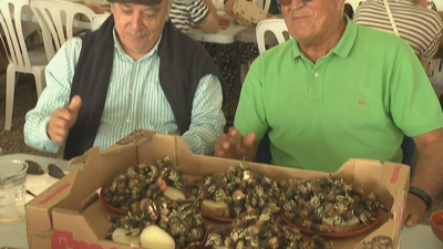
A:
[[[49,158],[42,156],[33,156],[27,154],[12,154],[0,157],[1,159],[30,159],[39,163],[44,170],[49,163],[59,165],[63,170],[70,172],[83,165],[73,165],[68,167],[68,160]],[[48,186],[49,187],[49,186]],[[0,247],[17,247],[28,249],[27,225],[25,221],[14,225],[0,225]],[[443,243],[440,242],[432,234],[430,226],[418,225],[413,228],[404,228],[401,235],[401,249],[442,249]]]

